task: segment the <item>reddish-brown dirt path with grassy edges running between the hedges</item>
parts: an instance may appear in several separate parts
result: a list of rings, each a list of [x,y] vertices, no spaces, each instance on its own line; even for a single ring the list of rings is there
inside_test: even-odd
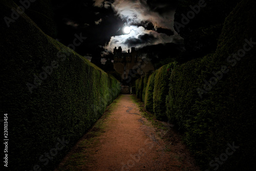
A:
[[[199,170],[178,138],[120,95],[55,170]]]

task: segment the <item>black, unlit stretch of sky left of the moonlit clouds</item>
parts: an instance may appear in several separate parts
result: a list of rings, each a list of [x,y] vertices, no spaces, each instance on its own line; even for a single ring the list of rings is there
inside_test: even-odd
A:
[[[53,0],[55,20],[58,27],[57,39],[68,46],[75,34],[82,33],[87,39],[76,51],[81,55],[91,54],[99,46],[108,43],[125,22],[115,15],[112,8],[98,8],[94,1]]]

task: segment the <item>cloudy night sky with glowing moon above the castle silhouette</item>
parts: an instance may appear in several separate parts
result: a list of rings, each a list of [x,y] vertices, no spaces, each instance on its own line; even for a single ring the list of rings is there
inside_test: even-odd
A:
[[[87,39],[75,51],[89,59],[99,52],[103,58],[119,46],[127,51],[182,44],[174,31],[176,0],[52,0],[52,4],[57,40],[68,46],[74,34],[82,34]],[[125,27],[131,30],[129,34]]]

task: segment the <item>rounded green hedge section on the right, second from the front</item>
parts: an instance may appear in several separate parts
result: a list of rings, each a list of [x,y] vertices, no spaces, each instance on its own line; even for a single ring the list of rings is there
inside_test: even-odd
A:
[[[166,120],[165,99],[169,90],[169,77],[175,63],[169,63],[156,71],[153,92],[153,110],[159,120]]]

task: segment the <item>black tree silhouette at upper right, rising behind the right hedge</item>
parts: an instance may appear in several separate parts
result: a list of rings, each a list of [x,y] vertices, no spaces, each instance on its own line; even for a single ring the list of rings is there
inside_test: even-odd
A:
[[[198,0],[181,0],[176,9],[174,28],[184,38],[186,52],[179,61],[215,52],[225,18],[239,2],[241,0],[205,0],[204,7],[198,8]],[[194,16],[191,14],[193,9]]]

